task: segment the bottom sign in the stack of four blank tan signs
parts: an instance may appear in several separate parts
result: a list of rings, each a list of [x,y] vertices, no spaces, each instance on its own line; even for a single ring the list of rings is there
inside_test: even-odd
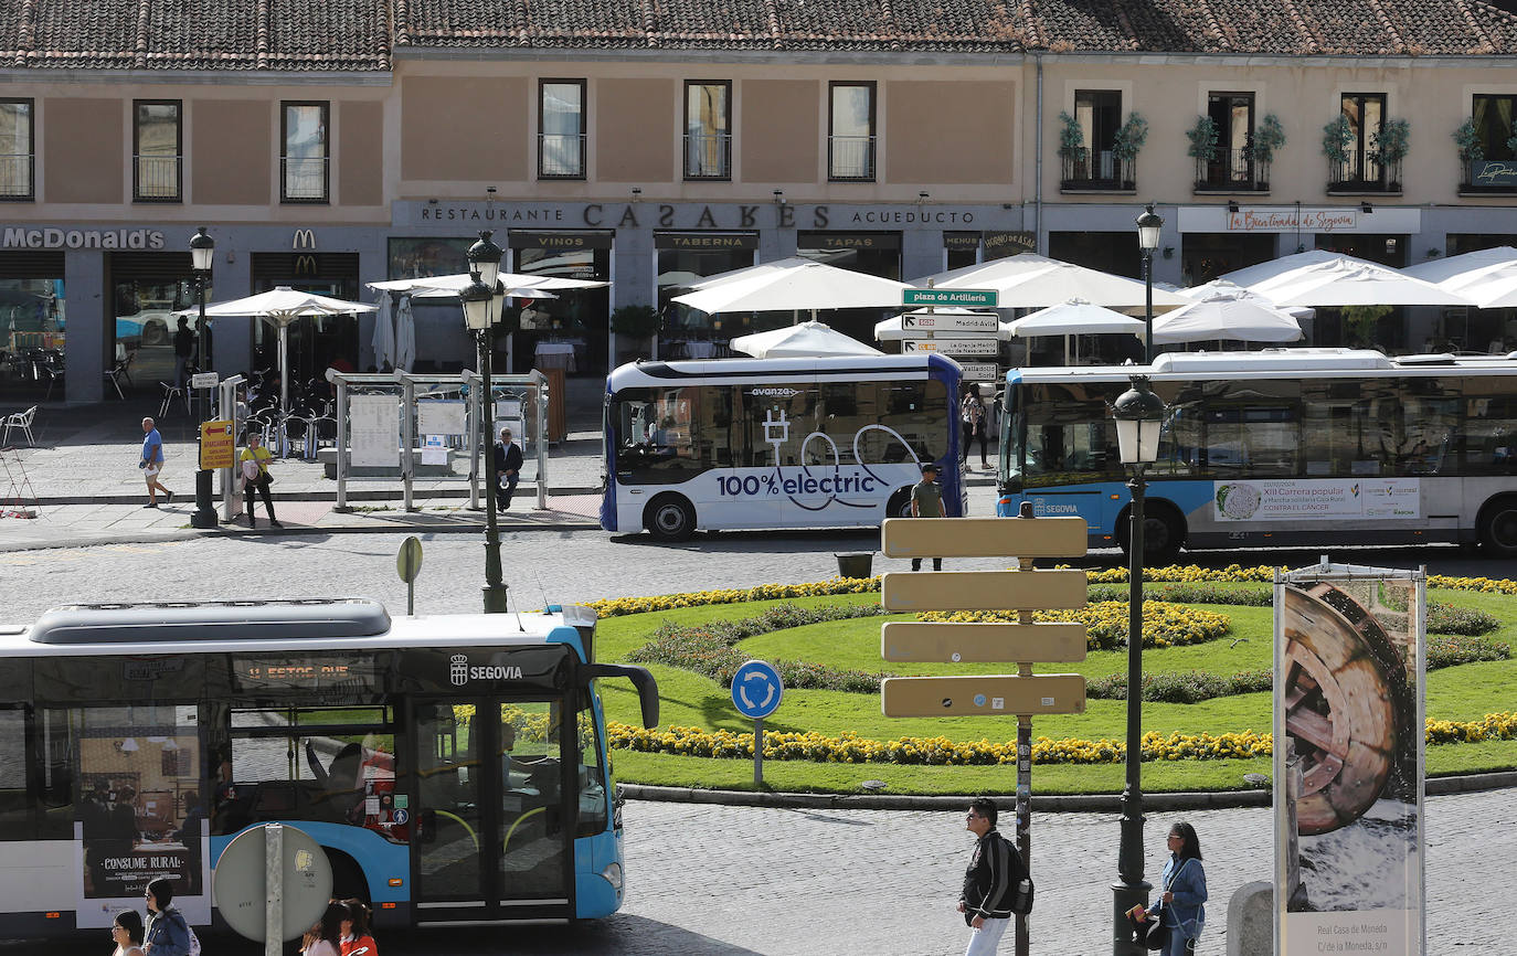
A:
[[[1085,677],[887,677],[880,710],[890,718],[1085,713]]]

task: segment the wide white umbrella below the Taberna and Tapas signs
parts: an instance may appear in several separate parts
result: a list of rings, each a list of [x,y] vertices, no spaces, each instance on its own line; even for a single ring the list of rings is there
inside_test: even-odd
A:
[[[901,303],[904,282],[824,266],[784,259],[752,267],[742,279],[707,284],[674,302],[707,314],[802,311],[816,319],[824,308],[887,308]],[[721,276],[713,276],[721,278]],[[868,347],[868,346],[865,346]]]

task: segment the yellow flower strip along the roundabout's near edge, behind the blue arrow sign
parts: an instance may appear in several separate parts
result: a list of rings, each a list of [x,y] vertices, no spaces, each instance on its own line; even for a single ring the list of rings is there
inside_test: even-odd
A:
[[[698,727],[646,730],[611,721],[607,745],[613,750],[684,754],[690,757],[752,759],[754,734],[730,730],[707,731]],[[1517,739],[1517,713],[1488,713],[1479,721],[1427,721],[1427,744],[1475,744]],[[954,742],[948,737],[901,737],[863,741],[857,734],[824,737],[818,733],[766,733],[765,760],[813,760],[818,763],[913,763],[986,765],[1016,763],[1016,741]],[[1144,760],[1235,760],[1268,757],[1274,753],[1271,734],[1245,730],[1224,734],[1147,733]],[[1121,763],[1123,741],[1033,741],[1033,763]]]

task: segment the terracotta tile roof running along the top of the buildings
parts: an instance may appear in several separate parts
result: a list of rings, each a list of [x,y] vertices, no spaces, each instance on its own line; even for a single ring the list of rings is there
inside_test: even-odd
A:
[[[9,0],[0,67],[388,70],[393,49],[1514,55],[1485,0]]]

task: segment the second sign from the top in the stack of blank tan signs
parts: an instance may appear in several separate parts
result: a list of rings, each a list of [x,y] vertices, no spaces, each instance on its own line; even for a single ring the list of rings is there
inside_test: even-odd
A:
[[[1083,571],[898,571],[880,580],[890,612],[1068,609],[1085,607],[1085,595]]]

